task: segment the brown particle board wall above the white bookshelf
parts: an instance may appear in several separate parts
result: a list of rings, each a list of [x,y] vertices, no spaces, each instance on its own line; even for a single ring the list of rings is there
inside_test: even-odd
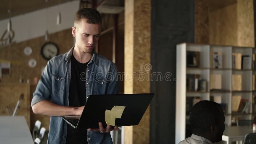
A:
[[[253,0],[195,2],[195,43],[254,47]]]

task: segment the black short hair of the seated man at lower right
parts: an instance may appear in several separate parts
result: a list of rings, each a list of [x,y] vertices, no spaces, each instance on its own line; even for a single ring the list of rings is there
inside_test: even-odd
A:
[[[206,131],[211,125],[217,125],[222,116],[220,110],[220,104],[214,101],[202,100],[196,103],[189,116],[192,130]]]

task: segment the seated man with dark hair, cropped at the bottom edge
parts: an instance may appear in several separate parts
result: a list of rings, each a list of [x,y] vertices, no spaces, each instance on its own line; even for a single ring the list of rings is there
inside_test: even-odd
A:
[[[190,113],[192,135],[179,144],[213,144],[222,140],[225,116],[220,104],[203,100],[196,103]]]

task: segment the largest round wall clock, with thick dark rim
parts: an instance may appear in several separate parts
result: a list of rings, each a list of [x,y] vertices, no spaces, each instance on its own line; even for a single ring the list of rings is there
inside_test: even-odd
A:
[[[59,54],[59,48],[56,44],[52,42],[44,43],[41,47],[41,55],[45,60],[50,60],[51,58]]]

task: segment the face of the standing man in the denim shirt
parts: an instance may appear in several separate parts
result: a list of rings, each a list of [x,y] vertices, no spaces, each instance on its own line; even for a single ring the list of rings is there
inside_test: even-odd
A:
[[[100,38],[100,24],[90,24],[86,19],[80,20],[72,28],[76,45],[82,52],[92,52]]]

